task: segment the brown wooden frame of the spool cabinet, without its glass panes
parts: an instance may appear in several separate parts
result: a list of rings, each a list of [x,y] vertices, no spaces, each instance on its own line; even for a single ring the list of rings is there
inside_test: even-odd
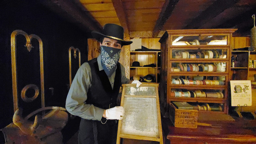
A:
[[[167,30],[164,35],[161,37],[159,42],[161,43],[162,57],[161,57],[161,73],[162,78],[160,81],[160,99],[166,99],[165,106],[168,106],[170,101],[186,101],[186,102],[202,102],[202,103],[219,103],[224,105],[224,111],[219,111],[219,113],[228,114],[228,82],[229,82],[229,73],[230,73],[230,61],[231,61],[231,45],[230,40],[232,33],[237,29],[186,29],[186,30]],[[180,36],[226,36],[227,44],[226,45],[172,45],[173,37]],[[226,58],[173,58],[173,50],[217,50],[217,49],[226,49],[227,57]],[[163,55],[164,54],[164,55]],[[166,55],[167,54],[167,55]],[[226,63],[226,71],[215,71],[215,72],[187,72],[171,71],[172,63]],[[172,76],[225,76],[224,85],[173,85],[171,84]],[[165,86],[167,85],[167,86]],[[216,89],[224,90],[224,98],[185,98],[185,97],[173,97],[170,96],[171,89]],[[161,92],[162,91],[162,92]],[[166,95],[166,98],[165,98]],[[202,111],[199,111],[202,112]],[[204,112],[214,112],[214,111],[204,111]],[[216,112],[214,112],[216,113]]]

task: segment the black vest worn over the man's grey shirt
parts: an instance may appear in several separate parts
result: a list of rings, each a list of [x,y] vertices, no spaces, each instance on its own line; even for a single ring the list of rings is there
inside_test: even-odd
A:
[[[121,86],[121,67],[117,64],[115,81],[112,90],[109,78],[104,70],[99,70],[97,58],[88,61],[91,68],[91,87],[87,92],[87,104],[93,104],[102,109],[109,109],[116,106],[116,100]]]

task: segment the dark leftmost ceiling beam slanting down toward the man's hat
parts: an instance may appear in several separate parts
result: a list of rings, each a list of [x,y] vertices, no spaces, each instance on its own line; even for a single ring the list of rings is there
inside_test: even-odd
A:
[[[79,0],[50,0],[40,1],[40,3],[63,19],[80,27],[88,34],[88,37],[91,36],[91,31],[102,32],[103,30],[103,27],[92,17]]]

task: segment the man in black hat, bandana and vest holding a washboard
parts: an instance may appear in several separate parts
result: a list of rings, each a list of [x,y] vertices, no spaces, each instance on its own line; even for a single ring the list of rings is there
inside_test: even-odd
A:
[[[101,54],[81,65],[68,92],[66,109],[81,117],[79,144],[116,143],[117,120],[122,120],[124,108],[116,106],[121,84],[137,84],[125,77],[124,67],[118,62],[123,45],[123,27],[106,24],[103,33],[92,32],[100,41]]]

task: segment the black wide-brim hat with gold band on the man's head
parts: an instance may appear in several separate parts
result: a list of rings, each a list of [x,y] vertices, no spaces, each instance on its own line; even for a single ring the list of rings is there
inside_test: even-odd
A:
[[[105,24],[102,33],[92,31],[91,34],[98,41],[100,41],[102,37],[107,37],[120,40],[124,46],[132,43],[132,41],[124,40],[124,28],[116,24]]]

